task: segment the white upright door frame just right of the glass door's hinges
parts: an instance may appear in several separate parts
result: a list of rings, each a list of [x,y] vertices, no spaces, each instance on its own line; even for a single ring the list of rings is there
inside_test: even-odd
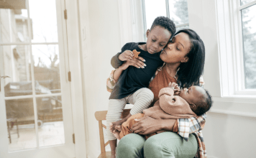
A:
[[[80,50],[80,27],[78,19],[78,0],[65,0],[67,19],[68,61],[71,72],[71,100],[73,109],[73,130],[76,136],[76,158],[86,157],[86,121],[83,101],[82,63]],[[64,19],[64,11],[63,11]]]

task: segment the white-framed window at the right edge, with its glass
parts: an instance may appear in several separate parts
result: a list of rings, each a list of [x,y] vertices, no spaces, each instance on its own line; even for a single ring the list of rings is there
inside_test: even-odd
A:
[[[222,96],[256,95],[256,0],[216,0]]]

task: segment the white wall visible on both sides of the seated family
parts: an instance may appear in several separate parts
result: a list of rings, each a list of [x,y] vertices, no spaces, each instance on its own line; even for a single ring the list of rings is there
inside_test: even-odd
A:
[[[81,35],[81,53],[87,153],[88,157],[98,157],[99,128],[94,112],[107,110],[109,93],[106,91],[106,78],[112,70],[110,60],[120,51],[122,42],[131,39],[122,39],[126,36],[122,32],[126,27],[120,27],[122,22],[129,23],[131,19],[120,21],[119,1],[78,1],[81,34],[86,28],[86,37]],[[125,3],[122,1],[123,6]],[[122,14],[126,16],[125,13]],[[198,32],[206,46],[205,88],[214,99],[214,106],[208,113],[204,129],[208,157],[255,157],[255,102],[221,97],[216,0],[189,0],[188,14],[190,28]],[[132,24],[129,26],[132,27]]]

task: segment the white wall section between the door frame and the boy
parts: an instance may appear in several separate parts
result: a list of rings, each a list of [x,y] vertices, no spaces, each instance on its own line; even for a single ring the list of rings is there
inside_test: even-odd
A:
[[[121,50],[119,2],[79,0],[79,14],[86,146],[88,157],[94,158],[100,154],[99,125],[94,113],[107,110],[110,93],[106,91],[106,78],[113,70],[111,57]],[[86,32],[86,36],[83,32]]]

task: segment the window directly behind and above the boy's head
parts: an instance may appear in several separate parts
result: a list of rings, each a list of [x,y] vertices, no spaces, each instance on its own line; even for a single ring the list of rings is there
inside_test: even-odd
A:
[[[159,16],[172,19],[177,31],[189,26],[188,0],[142,0],[142,7],[145,32],[150,29],[154,19]]]

